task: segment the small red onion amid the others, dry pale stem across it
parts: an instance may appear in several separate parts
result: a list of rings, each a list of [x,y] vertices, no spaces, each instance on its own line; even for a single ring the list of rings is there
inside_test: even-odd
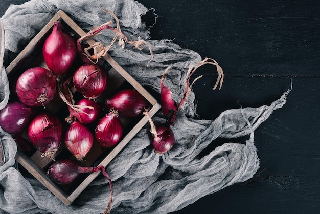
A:
[[[84,124],[95,122],[102,114],[102,106],[98,102],[87,98],[83,98],[77,103],[77,111],[71,108],[69,110],[71,117],[76,117]]]

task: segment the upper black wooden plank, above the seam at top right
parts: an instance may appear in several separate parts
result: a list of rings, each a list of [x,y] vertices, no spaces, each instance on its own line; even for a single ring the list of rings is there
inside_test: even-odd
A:
[[[159,15],[152,39],[175,39],[227,74],[318,74],[317,1],[140,2]]]

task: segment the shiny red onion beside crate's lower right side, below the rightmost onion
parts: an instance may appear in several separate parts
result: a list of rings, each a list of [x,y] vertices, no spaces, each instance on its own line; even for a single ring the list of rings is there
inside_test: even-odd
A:
[[[118,111],[111,110],[99,122],[95,130],[97,141],[102,148],[115,146],[122,137],[123,126]]]

